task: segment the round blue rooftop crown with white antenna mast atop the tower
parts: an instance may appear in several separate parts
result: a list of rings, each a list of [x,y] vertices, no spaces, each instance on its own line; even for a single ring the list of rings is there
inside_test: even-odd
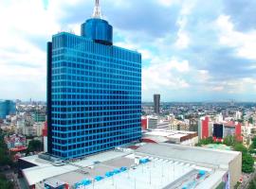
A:
[[[101,19],[100,0],[95,0],[93,16],[82,24],[81,35],[95,43],[113,44],[113,27]]]

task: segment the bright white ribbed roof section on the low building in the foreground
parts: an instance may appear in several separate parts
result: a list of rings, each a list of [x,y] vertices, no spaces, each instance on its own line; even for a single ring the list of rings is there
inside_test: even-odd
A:
[[[133,158],[129,155],[126,157]],[[134,168],[130,168],[125,172],[114,175],[110,178],[93,182],[86,186],[80,186],[83,189],[155,189],[169,188],[178,185],[181,188],[186,183],[195,183],[194,188],[202,188],[200,185],[209,179],[214,171],[210,168],[199,167],[192,163],[182,163],[178,161],[170,161],[168,159],[160,159],[148,157],[149,163],[139,164]],[[206,175],[196,180],[199,170],[206,171]],[[217,179],[222,178],[225,173],[216,173]],[[216,176],[215,176],[216,177]],[[214,182],[215,183],[215,182]],[[212,183],[212,184],[214,184]],[[209,186],[209,183],[208,183]]]

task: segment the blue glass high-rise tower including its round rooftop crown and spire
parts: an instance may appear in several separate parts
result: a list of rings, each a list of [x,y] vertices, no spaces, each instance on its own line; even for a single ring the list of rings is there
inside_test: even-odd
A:
[[[47,43],[47,149],[63,159],[141,137],[141,55],[113,45],[99,0],[81,26]]]

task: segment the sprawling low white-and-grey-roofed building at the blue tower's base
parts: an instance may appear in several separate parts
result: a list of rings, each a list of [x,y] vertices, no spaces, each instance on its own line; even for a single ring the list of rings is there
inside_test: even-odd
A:
[[[75,162],[19,159],[27,187],[58,182],[86,189],[233,188],[240,179],[240,152],[171,144],[119,147]]]

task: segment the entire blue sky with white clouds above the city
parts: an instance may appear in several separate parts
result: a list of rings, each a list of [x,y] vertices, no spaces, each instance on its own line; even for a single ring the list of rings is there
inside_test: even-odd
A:
[[[93,0],[0,0],[0,98],[46,100],[46,42]],[[142,100],[256,101],[256,0],[101,0],[114,43],[142,53]]]

